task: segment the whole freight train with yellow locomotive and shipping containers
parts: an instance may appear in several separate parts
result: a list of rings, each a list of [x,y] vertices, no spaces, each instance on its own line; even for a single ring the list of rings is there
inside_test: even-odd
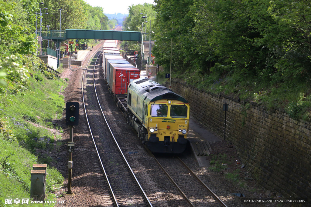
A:
[[[182,153],[188,144],[189,102],[148,78],[104,43],[103,74],[117,106],[151,152]]]

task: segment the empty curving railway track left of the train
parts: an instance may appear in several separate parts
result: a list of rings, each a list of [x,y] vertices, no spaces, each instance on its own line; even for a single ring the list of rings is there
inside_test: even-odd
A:
[[[100,105],[96,93],[95,77],[99,75],[95,71],[96,65],[101,65],[100,49],[91,59],[90,66],[87,64],[82,79],[82,97],[84,111],[88,127],[100,160],[100,169],[109,188],[111,200],[114,206],[152,206],[146,193],[142,189],[128,161],[125,159],[113,135],[113,129],[105,118],[105,107]],[[86,79],[84,79],[86,77]],[[105,125],[103,123],[106,123]],[[109,204],[104,204],[109,205]]]

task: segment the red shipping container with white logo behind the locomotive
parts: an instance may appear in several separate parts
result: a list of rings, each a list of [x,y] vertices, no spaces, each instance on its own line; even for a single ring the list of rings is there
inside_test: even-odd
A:
[[[114,94],[128,93],[128,84],[140,78],[137,68],[114,68],[112,92]]]

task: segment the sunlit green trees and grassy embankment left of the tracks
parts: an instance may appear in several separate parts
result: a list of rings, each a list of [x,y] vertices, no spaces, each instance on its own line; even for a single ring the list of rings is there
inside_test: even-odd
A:
[[[48,164],[47,199],[63,183],[46,152],[55,150],[51,121],[62,116],[64,100],[58,92],[65,83],[34,56],[30,11],[35,2],[0,0],[0,206],[7,198],[30,198],[35,163]]]

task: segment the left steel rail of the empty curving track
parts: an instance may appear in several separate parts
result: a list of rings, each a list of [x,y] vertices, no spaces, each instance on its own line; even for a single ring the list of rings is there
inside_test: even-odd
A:
[[[97,53],[100,49],[101,49],[101,47],[100,47],[95,53]],[[94,56],[95,56],[95,54],[94,54]],[[93,56],[93,57],[94,57],[94,56]],[[99,56],[99,55],[98,55],[98,56]],[[93,57],[91,57],[90,60],[91,60]],[[97,59],[98,59],[98,57],[97,57]],[[96,61],[97,61],[97,59],[96,59]],[[89,120],[88,120],[88,118],[87,118],[87,113],[86,113],[86,107],[85,107],[85,102],[84,102],[84,94],[83,94],[83,82],[84,82],[84,74],[85,74],[85,71],[86,71],[87,66],[89,65],[90,60],[89,60],[89,61],[87,62],[87,64],[86,64],[86,67],[85,67],[84,72],[83,72],[83,78],[82,78],[82,100],[83,100],[84,113],[85,113],[85,116],[86,116],[87,125],[88,125],[89,130],[90,130],[90,133],[91,133],[91,137],[92,137],[92,140],[93,140],[95,149],[96,149],[96,153],[97,153],[98,159],[99,159],[99,161],[100,161],[101,168],[102,168],[102,170],[103,170],[103,172],[104,172],[106,181],[107,181],[108,186],[109,186],[109,190],[110,190],[110,192],[111,192],[111,196],[112,196],[112,198],[113,198],[113,200],[114,200],[115,205],[116,205],[117,207],[119,207],[118,202],[117,202],[117,199],[116,199],[116,197],[114,196],[114,191],[112,190],[112,187],[111,187],[111,185],[110,185],[108,176],[107,176],[106,171],[105,171],[105,169],[104,169],[104,165],[103,165],[103,163],[102,163],[102,161],[101,161],[101,159],[100,159],[100,155],[99,155],[97,146],[96,146],[96,144],[95,144],[95,140],[94,140],[94,137],[93,137],[93,134],[92,134],[92,130],[91,130],[91,127],[90,127],[90,123],[89,123]],[[96,62],[95,62],[95,65],[96,65]],[[94,65],[94,68],[95,68],[95,65]]]

